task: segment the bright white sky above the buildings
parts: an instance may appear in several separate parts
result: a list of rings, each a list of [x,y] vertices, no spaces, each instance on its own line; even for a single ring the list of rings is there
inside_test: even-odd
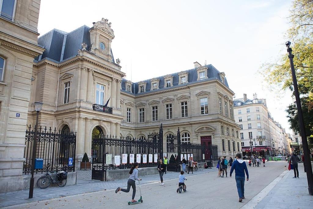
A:
[[[292,2],[262,1],[83,1],[43,0],[38,33],[70,32],[106,18],[115,38],[112,51],[133,82],[189,70],[194,62],[224,72],[235,98],[265,98],[275,121],[292,133],[285,109],[290,91],[271,92],[259,73],[287,50]],[[288,130],[289,129],[289,130]]]

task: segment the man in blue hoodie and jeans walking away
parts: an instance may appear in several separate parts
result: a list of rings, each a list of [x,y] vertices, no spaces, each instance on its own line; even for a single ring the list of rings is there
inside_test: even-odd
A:
[[[233,162],[232,168],[230,169],[230,177],[232,177],[232,173],[235,170],[235,179],[237,184],[237,190],[239,195],[239,202],[244,199],[244,172],[247,175],[247,181],[249,181],[249,173],[246,162],[241,159],[241,154],[236,154],[236,159]]]

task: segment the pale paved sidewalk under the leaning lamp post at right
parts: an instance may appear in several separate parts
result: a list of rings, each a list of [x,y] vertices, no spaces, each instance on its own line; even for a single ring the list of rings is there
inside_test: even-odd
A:
[[[277,183],[275,180],[273,181],[276,185],[268,191],[267,195],[261,201],[258,201],[257,198],[261,198],[262,192],[266,192],[266,188],[256,195],[254,199],[250,200],[250,202],[254,201],[256,203],[254,206],[248,202],[243,208],[313,208],[313,196],[309,195],[308,192],[308,182],[306,173],[303,172],[303,163],[299,163],[298,165],[299,179],[293,179],[293,170],[287,170],[285,175]]]

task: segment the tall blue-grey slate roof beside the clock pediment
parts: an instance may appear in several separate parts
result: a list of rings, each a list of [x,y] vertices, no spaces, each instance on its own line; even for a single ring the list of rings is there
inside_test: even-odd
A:
[[[42,55],[35,57],[35,60],[40,61],[44,58],[48,58],[49,60],[62,62],[63,60],[77,55],[77,52],[81,49],[81,44],[83,42],[87,44],[87,49],[89,49],[91,45],[89,29],[90,28],[86,25],[83,25],[69,33],[53,29],[40,36],[38,38],[38,44],[42,46],[45,51]],[[114,58],[112,62],[115,63]]]

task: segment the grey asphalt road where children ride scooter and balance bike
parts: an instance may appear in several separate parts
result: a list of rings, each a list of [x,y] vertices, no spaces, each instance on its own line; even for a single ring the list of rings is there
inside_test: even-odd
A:
[[[266,167],[248,167],[249,181],[245,181],[245,199],[241,203],[238,202],[235,174],[230,178],[228,169],[228,178],[218,178],[217,172],[189,177],[187,174],[187,192],[181,194],[176,193],[179,173],[177,179],[164,181],[164,186],[160,186],[160,182],[141,185],[143,203],[130,206],[127,202],[131,200],[132,189],[129,193],[99,191],[10,208],[240,208],[287,168],[286,162],[266,162]],[[137,183],[135,199],[139,198]]]

